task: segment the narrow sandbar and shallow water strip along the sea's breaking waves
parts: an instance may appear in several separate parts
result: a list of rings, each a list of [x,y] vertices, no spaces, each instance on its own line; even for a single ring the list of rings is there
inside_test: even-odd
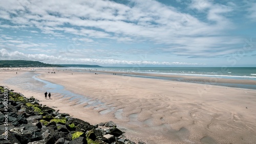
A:
[[[88,72],[88,71],[87,71]],[[150,79],[160,79],[168,81],[177,82],[188,82],[188,83],[198,83],[206,85],[218,85],[218,86],[228,86],[237,88],[247,88],[256,89],[256,78],[250,79],[238,79],[236,76],[204,76],[204,75],[184,75],[178,74],[174,75],[172,73],[157,74],[157,73],[135,73],[135,72],[125,72],[125,71],[102,71],[102,70],[91,70],[91,73],[101,73],[101,74],[117,74],[122,76],[132,76],[140,78],[150,78]]]

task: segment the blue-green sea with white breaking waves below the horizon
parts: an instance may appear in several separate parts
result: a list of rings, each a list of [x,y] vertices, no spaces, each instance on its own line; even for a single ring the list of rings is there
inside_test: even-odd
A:
[[[76,67],[76,69],[256,80],[256,67]]]

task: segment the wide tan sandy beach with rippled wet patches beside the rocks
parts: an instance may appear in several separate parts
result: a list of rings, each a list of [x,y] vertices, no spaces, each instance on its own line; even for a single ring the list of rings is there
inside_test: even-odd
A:
[[[134,141],[256,143],[256,90],[63,69],[55,69],[56,74],[48,71],[53,68],[1,69],[0,84],[91,124],[113,121]],[[90,101],[63,98],[51,89],[52,100],[46,100],[45,91],[40,90],[44,87],[42,82],[15,85],[8,81],[23,81],[28,74],[39,74],[37,78],[62,85]],[[224,83],[225,79],[220,81]],[[231,81],[255,84],[253,80]],[[28,84],[38,89],[22,86]],[[89,105],[91,101],[99,101],[105,107]]]

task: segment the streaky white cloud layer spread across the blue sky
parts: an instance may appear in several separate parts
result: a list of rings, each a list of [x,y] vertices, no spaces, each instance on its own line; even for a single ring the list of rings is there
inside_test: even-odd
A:
[[[41,50],[45,55],[54,55],[63,50],[63,45],[66,44],[66,49],[71,44],[76,51],[87,49],[90,56],[95,51],[104,52],[106,55],[102,58],[105,58],[113,49],[122,51],[115,43],[134,43],[137,44],[135,49],[142,53],[200,58],[237,52],[238,45],[244,43],[241,36],[230,33],[237,29],[232,19],[239,9],[237,3],[191,0],[177,1],[176,5],[181,7],[174,7],[153,0],[122,2],[3,0],[0,2],[0,28],[26,32],[32,37],[8,39],[9,35],[5,35],[0,37],[0,46],[13,49],[13,53],[25,53],[29,49],[33,53]],[[255,6],[256,3],[247,6],[248,19],[255,19]],[[39,42],[42,39],[51,42]],[[49,47],[55,53],[50,53]],[[154,51],[148,51],[153,47]],[[122,61],[120,57],[125,54],[114,55]],[[70,53],[66,58],[83,57]]]

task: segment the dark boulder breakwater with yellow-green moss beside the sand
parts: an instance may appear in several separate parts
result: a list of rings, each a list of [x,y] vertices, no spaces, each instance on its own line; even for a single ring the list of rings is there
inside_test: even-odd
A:
[[[0,100],[0,143],[135,143],[112,121],[91,125],[4,86]]]

